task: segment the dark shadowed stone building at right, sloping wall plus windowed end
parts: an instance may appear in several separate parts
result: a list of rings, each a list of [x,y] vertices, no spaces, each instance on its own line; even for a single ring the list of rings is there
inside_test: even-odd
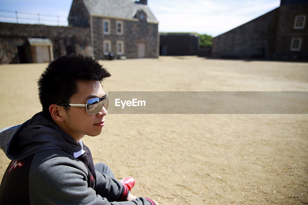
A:
[[[308,59],[307,0],[280,7],[213,39],[212,57]]]

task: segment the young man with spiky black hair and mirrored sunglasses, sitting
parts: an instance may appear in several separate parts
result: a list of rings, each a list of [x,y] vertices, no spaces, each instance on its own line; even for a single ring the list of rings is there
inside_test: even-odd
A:
[[[148,204],[130,194],[133,178],[118,182],[104,163],[93,163],[84,135],[105,125],[110,77],[92,57],[61,56],[39,78],[43,111],[0,130],[0,146],[12,160],[0,186],[0,204]]]

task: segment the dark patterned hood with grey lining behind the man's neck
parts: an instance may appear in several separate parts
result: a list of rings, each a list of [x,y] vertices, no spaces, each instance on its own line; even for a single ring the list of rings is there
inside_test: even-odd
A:
[[[74,157],[82,152],[75,139],[45,118],[43,112],[35,114],[21,125],[1,129],[0,148],[11,160],[20,160],[52,149],[62,150]]]

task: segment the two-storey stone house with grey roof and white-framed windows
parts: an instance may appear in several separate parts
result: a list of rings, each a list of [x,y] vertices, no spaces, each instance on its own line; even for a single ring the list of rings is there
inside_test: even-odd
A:
[[[69,25],[90,28],[94,57],[158,58],[158,21],[147,0],[73,0]]]

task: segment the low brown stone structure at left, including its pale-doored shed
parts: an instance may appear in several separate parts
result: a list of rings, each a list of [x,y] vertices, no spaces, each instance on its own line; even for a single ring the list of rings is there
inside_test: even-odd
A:
[[[70,53],[92,55],[89,28],[0,22],[0,64],[49,62]]]

